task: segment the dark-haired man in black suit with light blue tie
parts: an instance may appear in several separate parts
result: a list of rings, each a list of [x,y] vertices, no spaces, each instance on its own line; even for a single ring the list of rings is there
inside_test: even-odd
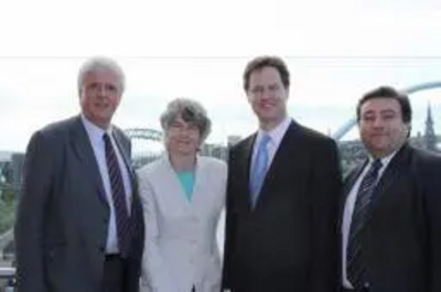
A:
[[[223,290],[335,291],[336,144],[289,118],[279,57],[248,63],[244,88],[259,130],[229,152]]]

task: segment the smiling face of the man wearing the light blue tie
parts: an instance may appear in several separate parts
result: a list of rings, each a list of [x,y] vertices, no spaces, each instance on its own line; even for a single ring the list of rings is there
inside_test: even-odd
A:
[[[266,66],[251,72],[246,93],[263,130],[275,128],[287,117],[289,89],[283,86],[277,68]]]

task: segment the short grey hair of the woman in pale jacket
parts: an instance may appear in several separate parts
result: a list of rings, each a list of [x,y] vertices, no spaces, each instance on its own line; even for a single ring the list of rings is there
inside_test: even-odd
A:
[[[212,121],[200,102],[189,98],[176,98],[169,102],[165,111],[161,115],[162,130],[166,132],[178,117],[185,122],[195,125],[200,130],[201,141],[205,141],[212,130]]]

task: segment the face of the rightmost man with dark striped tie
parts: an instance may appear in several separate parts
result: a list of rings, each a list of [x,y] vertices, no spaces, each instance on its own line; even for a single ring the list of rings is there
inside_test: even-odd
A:
[[[377,97],[361,106],[358,130],[369,153],[374,158],[384,158],[406,142],[410,128],[404,122],[396,99]]]

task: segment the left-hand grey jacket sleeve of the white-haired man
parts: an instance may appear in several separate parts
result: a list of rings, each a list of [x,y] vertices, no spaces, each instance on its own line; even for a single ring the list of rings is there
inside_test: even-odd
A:
[[[30,140],[23,166],[14,237],[20,292],[45,292],[44,220],[60,163],[55,143],[43,132]]]

